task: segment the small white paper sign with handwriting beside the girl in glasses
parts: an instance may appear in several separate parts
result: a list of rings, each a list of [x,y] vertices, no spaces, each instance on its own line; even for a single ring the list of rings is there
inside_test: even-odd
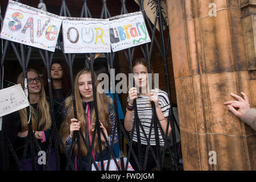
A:
[[[0,117],[29,106],[20,84],[0,90]]]

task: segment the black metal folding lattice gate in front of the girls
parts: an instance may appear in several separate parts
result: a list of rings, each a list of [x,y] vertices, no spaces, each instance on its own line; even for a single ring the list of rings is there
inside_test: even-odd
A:
[[[83,6],[81,8],[82,9],[81,10],[81,17],[94,18],[94,17],[92,17],[89,8],[86,5],[87,1],[86,0],[81,0],[81,1],[83,2]],[[111,14],[108,10],[107,3],[106,3],[108,0],[101,0],[101,1],[97,0],[97,1],[99,1],[99,3],[102,2],[102,11],[101,11],[100,18],[101,19],[110,18]],[[131,13],[131,12],[128,12],[127,9],[126,9],[126,0],[120,0],[120,1],[122,3],[122,9],[120,10],[121,14]],[[20,2],[20,1],[16,1],[16,2]],[[40,0],[39,2],[43,3],[44,1]],[[155,44],[158,47],[158,51],[160,52],[160,55],[161,55],[162,60],[163,60],[163,65],[164,65],[163,69],[164,69],[164,73],[165,73],[164,77],[165,77],[165,82],[166,82],[166,90],[167,90],[167,94],[168,94],[168,97],[169,97],[169,100],[170,100],[170,103],[171,103],[171,107],[170,107],[170,110],[169,110],[168,123],[170,122],[171,127],[172,127],[171,140],[170,140],[170,139],[167,139],[167,136],[164,136],[163,129],[160,126],[158,118],[154,117],[156,112],[155,112],[154,103],[152,103],[152,108],[153,108],[153,117],[152,118],[154,118],[154,127],[156,127],[156,126],[160,127],[160,131],[161,131],[162,135],[164,136],[164,147],[163,147],[163,150],[160,151],[159,140],[158,141],[156,140],[156,146],[158,146],[158,147],[156,147],[157,150],[156,150],[156,154],[155,154],[155,152],[152,151],[152,147],[149,144],[149,138],[150,137],[148,137],[148,139],[147,139],[148,145],[147,145],[147,150],[146,150],[146,156],[147,156],[148,152],[151,151],[152,155],[155,158],[155,162],[157,164],[158,170],[163,170],[163,163],[164,163],[164,159],[165,159],[165,156],[166,156],[166,151],[169,151],[170,157],[172,159],[171,163],[174,166],[174,169],[177,170],[177,168],[179,166],[179,155],[180,155],[180,148],[181,147],[180,147],[180,143],[179,143],[179,146],[177,146],[177,143],[176,143],[175,127],[177,127],[179,129],[179,126],[177,125],[177,122],[176,122],[176,119],[174,117],[174,113],[173,113],[173,110],[172,110],[171,89],[170,89],[170,81],[169,81],[168,68],[167,68],[167,55],[168,55],[168,50],[170,49],[170,36],[169,36],[169,38],[167,39],[167,42],[166,42],[165,39],[164,39],[164,31],[163,31],[163,27],[167,28],[167,30],[168,30],[168,25],[167,25],[166,19],[163,18],[162,9],[161,9],[161,6],[160,6],[160,0],[151,0],[151,1],[149,0],[148,1],[148,3],[150,3],[150,2],[151,3],[152,2],[156,3],[156,18],[155,18],[155,22],[154,22],[153,26],[152,26],[150,20],[148,19],[144,9],[143,9],[143,7],[144,7],[143,2],[144,2],[143,0],[139,0],[139,4],[140,4],[139,10],[142,11],[145,22],[147,24],[147,29],[150,31],[150,34],[152,36],[151,36],[151,43],[144,44],[144,45],[140,46],[140,48],[141,48],[141,51],[142,51],[142,54],[143,54],[144,58],[147,60],[147,63],[149,65],[148,68],[150,68],[150,59],[151,59],[153,44]],[[60,10],[59,15],[61,15],[61,16],[72,16],[69,13],[69,9],[68,9],[64,0],[62,1],[61,10]],[[3,16],[1,14],[0,14],[0,19],[1,19],[1,22],[3,22]],[[156,25],[157,24],[159,25],[159,31],[156,30]],[[156,34],[158,34],[158,32],[159,32],[159,36],[160,36],[160,42],[156,39]],[[69,72],[70,72],[70,77],[71,77],[71,85],[72,85],[72,95],[74,96],[73,97],[73,110],[74,110],[75,118],[77,118],[77,111],[76,111],[76,105],[75,105],[75,92],[74,92],[74,84],[73,84],[73,82],[74,82],[74,80],[73,80],[73,70],[72,70],[72,66],[74,64],[76,54],[70,54],[70,53],[65,54],[64,53],[63,47],[62,47],[63,43],[62,43],[62,40],[61,40],[60,37],[61,36],[59,36],[58,44],[61,48],[61,51],[63,52],[63,57],[64,57],[65,61],[68,64],[68,67],[69,67]],[[2,41],[3,45],[2,45],[2,55],[1,55],[1,69],[0,69],[1,81],[0,81],[0,85],[1,85],[1,89],[3,89],[2,73],[3,73],[3,64],[4,64],[5,59],[6,59],[6,53],[8,51],[13,51],[15,53],[16,59],[18,59],[18,63],[20,64],[20,67],[22,67],[23,76],[24,76],[24,78],[27,78],[27,68],[28,68],[28,64],[30,63],[30,56],[31,56],[32,47],[25,46],[23,44],[10,42],[8,40],[2,40],[1,39],[1,41]],[[58,144],[60,144],[60,146],[62,146],[63,148],[65,148],[65,147],[64,147],[63,141],[60,138],[60,134],[56,129],[56,121],[54,119],[55,117],[54,117],[54,108],[53,108],[53,96],[52,96],[53,94],[52,94],[51,76],[50,76],[50,68],[51,68],[54,53],[44,51],[44,50],[38,49],[38,48],[35,48],[35,49],[38,50],[39,55],[40,55],[44,65],[47,69],[48,86],[49,86],[49,98],[50,98],[50,103],[49,104],[50,104],[51,118],[52,118],[52,126],[51,126],[52,133],[51,133],[51,137],[49,139],[49,146],[48,146],[48,150],[47,150],[47,153],[46,153],[46,156],[47,156],[46,161],[48,161],[49,152],[51,151],[52,146],[54,146],[54,148],[56,150],[57,168],[60,169]],[[134,49],[135,48],[129,48],[129,49],[125,49],[123,51],[128,63],[129,63],[130,73],[132,73],[132,71],[133,71],[133,69],[131,67],[131,62],[134,59]],[[84,55],[84,59],[85,59],[87,65],[88,65],[88,67],[93,72],[93,63],[94,63],[94,59],[95,59],[95,53],[89,53],[89,54],[83,54],[83,55]],[[109,64],[110,68],[114,68],[113,64],[114,64],[114,60],[115,60],[116,55],[117,55],[117,53],[113,53],[113,52],[112,53],[105,53],[106,60],[108,61],[108,64]],[[150,73],[150,69],[148,69],[148,73]],[[92,74],[93,93],[96,93],[96,88],[94,86],[94,78],[93,77],[94,77],[94,75]],[[119,155],[119,160],[121,162],[121,167],[119,167],[117,165],[117,168],[118,168],[118,170],[125,170],[125,169],[127,169],[128,163],[123,162],[123,157],[124,156],[123,156],[122,136],[127,140],[128,145],[129,145],[129,151],[127,151],[127,159],[128,160],[130,158],[130,155],[134,155],[133,148],[131,147],[133,139],[132,139],[132,137],[130,138],[129,135],[127,135],[121,121],[119,121],[118,108],[117,108],[117,97],[116,97],[115,94],[113,94],[113,96],[114,96],[114,110],[115,110],[115,117],[116,117],[115,118],[116,122],[115,122],[114,127],[118,131],[117,133],[118,133],[118,139],[119,139],[118,143],[119,143],[119,154],[120,154]],[[96,94],[94,94],[94,101],[96,101],[96,100],[97,100]],[[94,103],[96,103],[96,102],[94,102]],[[136,101],[134,101],[134,106],[135,106],[135,113],[137,113],[136,112],[136,110],[137,110]],[[27,107],[27,114],[29,114],[29,108],[30,107]],[[99,121],[98,121],[98,110],[97,110],[96,104],[95,104],[94,108],[96,110],[96,131],[97,131],[98,135],[100,135],[100,124],[99,124]],[[6,127],[7,127],[6,123],[7,122],[9,122],[9,121],[7,121],[7,118],[3,117],[2,131],[0,131],[0,142],[1,142],[0,143],[0,147],[1,147],[0,158],[1,158],[1,162],[2,162],[0,164],[1,168],[4,169],[4,170],[9,170],[9,152],[10,152],[10,155],[12,155],[14,157],[17,168],[19,170],[23,170],[23,161],[26,157],[27,148],[28,148],[28,146],[30,146],[30,150],[31,150],[31,154],[32,154],[31,158],[32,158],[32,161],[33,161],[32,162],[32,169],[35,169],[35,155],[36,155],[35,154],[35,147],[37,148],[37,150],[40,151],[40,146],[39,146],[39,144],[38,144],[38,142],[35,138],[35,135],[32,131],[32,126],[31,126],[32,122],[30,122],[29,125],[28,125],[28,137],[27,137],[26,147],[24,148],[22,160],[18,159],[18,156],[15,154],[15,150],[14,150],[14,148],[11,144],[11,141],[10,141],[8,135],[7,135],[7,130],[6,130]],[[139,122],[139,119],[135,119],[134,123],[135,123],[135,125],[133,125],[133,130],[131,131],[132,134],[134,133],[134,128],[135,127],[137,127],[137,131],[139,131],[140,127],[143,130],[143,127],[142,127],[141,123]],[[152,128],[152,125],[151,125],[150,133],[151,133],[152,130],[154,130],[154,128]],[[143,130],[143,133],[145,133],[144,130]],[[96,134],[96,132],[94,132],[93,142],[94,142],[94,139],[95,139],[95,134]],[[77,137],[78,135],[81,135],[82,140],[79,140],[79,137]],[[146,136],[146,134],[144,134],[144,135]],[[133,135],[131,135],[131,136],[133,136]],[[156,139],[157,139],[157,136],[156,136]],[[72,144],[74,143],[75,140],[77,140],[78,147],[80,147],[81,142],[84,142],[85,145],[86,145],[85,138],[82,135],[81,131],[75,133],[75,137],[73,137],[73,139],[72,139]],[[141,154],[142,149],[141,149],[141,144],[140,144],[139,140],[140,140],[140,137],[138,137],[138,143],[139,143],[138,144],[138,151],[139,151],[139,154]],[[86,147],[89,148],[89,150],[88,150],[89,151],[88,154],[90,154],[89,164],[90,165],[92,165],[92,164],[96,165],[95,160],[92,158],[92,148],[90,148],[90,146],[86,146]],[[108,160],[110,160],[111,156],[113,156],[113,160],[117,164],[117,159],[115,159],[114,155],[112,155],[112,153],[113,153],[113,141],[112,141],[112,144],[109,146],[109,148],[111,150],[110,150],[110,155],[109,155]],[[75,170],[75,167],[73,166],[73,163],[71,162],[71,153],[72,153],[72,151],[64,150],[65,157],[67,158],[66,169],[72,168],[73,170]],[[102,156],[101,148],[100,148],[100,156]],[[138,168],[143,171],[146,168],[146,162],[142,161],[141,155],[139,155],[139,156],[134,155],[134,158],[137,162]],[[81,161],[81,154],[78,155],[78,159]],[[147,157],[146,157],[146,159],[147,159]],[[81,162],[80,162],[80,164],[81,164]],[[88,166],[90,166],[90,165],[88,165]],[[101,169],[104,169],[103,165],[104,165],[104,163],[101,159]],[[107,167],[107,169],[108,168],[109,168],[109,166]],[[49,169],[48,165],[46,164],[44,166],[44,170],[48,170],[48,169]]]

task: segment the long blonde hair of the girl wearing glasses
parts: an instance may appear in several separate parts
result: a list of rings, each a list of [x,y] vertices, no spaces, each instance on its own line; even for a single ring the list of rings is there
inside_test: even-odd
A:
[[[40,73],[36,71],[35,69],[27,69],[27,72],[35,72],[38,77],[40,77]],[[23,73],[20,73],[17,79],[17,84],[22,85],[22,88],[24,88],[24,77]],[[51,128],[51,116],[49,114],[49,104],[46,100],[46,93],[44,92],[44,85],[41,81],[41,90],[39,92],[39,100],[38,100],[38,106],[36,109],[30,106],[31,110],[31,121],[32,121],[32,129],[33,130],[48,130]],[[38,118],[38,115],[36,114],[36,111],[40,112],[41,118]],[[27,125],[27,108],[19,110],[20,119],[22,121],[22,131],[28,130]],[[40,119],[40,120],[39,120]]]

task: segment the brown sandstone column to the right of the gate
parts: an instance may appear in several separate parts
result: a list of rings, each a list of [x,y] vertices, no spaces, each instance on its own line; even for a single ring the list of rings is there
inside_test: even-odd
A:
[[[241,2],[167,1],[184,170],[256,169],[255,131],[224,105],[245,92],[256,107],[255,7]]]

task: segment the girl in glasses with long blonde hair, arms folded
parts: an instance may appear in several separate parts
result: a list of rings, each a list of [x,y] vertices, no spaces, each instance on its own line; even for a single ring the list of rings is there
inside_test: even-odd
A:
[[[42,83],[42,78],[40,74],[35,69],[27,70],[27,89],[30,97],[30,111],[32,122],[32,130],[35,134],[35,138],[43,151],[47,151],[49,137],[51,136],[51,116],[49,114],[49,103],[46,99],[46,93],[44,92],[44,86]],[[24,77],[23,73],[20,73],[17,79],[17,84],[22,85],[24,88]],[[28,120],[27,120],[27,109],[19,110],[18,117],[18,144],[22,145],[23,148],[28,134]],[[39,156],[37,155],[39,151],[35,147],[36,156],[36,170],[42,170],[43,165],[38,163]],[[22,152],[21,152],[22,153]],[[20,154],[21,155],[21,154]],[[54,148],[50,151],[48,166],[51,170],[56,170],[55,161],[55,150]],[[27,150],[26,160],[24,160],[23,168],[25,170],[32,170],[31,153],[30,149]]]

